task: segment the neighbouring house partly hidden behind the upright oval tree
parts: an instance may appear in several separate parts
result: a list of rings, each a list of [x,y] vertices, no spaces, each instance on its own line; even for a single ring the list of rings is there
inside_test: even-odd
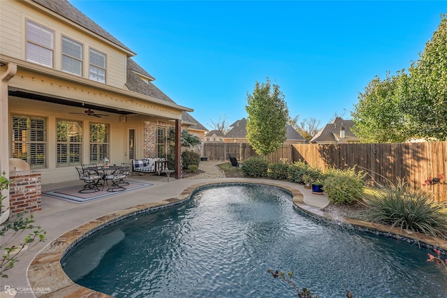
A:
[[[247,143],[247,119],[242,118],[231,124],[230,131],[223,137],[225,143]],[[292,126],[286,124],[286,142],[284,144],[304,144],[305,138]]]

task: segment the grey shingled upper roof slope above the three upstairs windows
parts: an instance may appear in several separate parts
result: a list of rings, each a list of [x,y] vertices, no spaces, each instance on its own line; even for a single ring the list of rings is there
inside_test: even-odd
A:
[[[108,31],[105,31],[103,28],[101,28],[98,24],[96,24],[94,21],[92,21],[87,15],[84,15],[83,13],[78,10],[78,8],[75,8],[75,6],[71,5],[68,1],[64,0],[32,0],[35,3],[40,4],[41,6],[52,10],[54,13],[57,13],[58,15],[61,15],[63,17],[66,17],[68,20],[71,20],[72,22],[80,25],[81,27],[84,27],[85,29],[96,33],[98,36],[101,36],[102,38],[105,38],[106,40],[109,40],[111,43],[115,43],[115,45],[118,45],[119,47],[124,48],[126,51],[129,51],[135,56],[135,53],[129,49],[129,47],[126,47],[122,42],[117,40],[117,38],[113,37],[112,34],[108,33]]]

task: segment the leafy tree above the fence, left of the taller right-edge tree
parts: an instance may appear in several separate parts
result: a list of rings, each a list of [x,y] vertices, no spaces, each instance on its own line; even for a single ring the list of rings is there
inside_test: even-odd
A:
[[[352,130],[362,142],[404,142],[410,137],[402,112],[407,81],[403,70],[395,76],[387,73],[383,81],[374,77],[359,94],[351,115],[355,123]]]

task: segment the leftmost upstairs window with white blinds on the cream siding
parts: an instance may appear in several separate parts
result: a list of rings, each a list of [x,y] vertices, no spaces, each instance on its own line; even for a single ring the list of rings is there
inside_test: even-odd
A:
[[[27,20],[27,61],[53,67],[54,31]]]

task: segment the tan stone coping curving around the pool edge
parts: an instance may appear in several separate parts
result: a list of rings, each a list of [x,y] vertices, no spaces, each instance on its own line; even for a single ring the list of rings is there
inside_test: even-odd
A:
[[[84,286],[73,282],[71,278],[65,274],[64,269],[61,267],[61,258],[63,258],[66,252],[81,239],[86,237],[86,235],[95,232],[105,225],[119,221],[122,218],[132,216],[138,212],[152,211],[160,208],[171,207],[175,204],[181,204],[182,202],[189,200],[190,196],[199,188],[219,184],[263,184],[283,188],[291,193],[292,201],[295,207],[298,207],[300,210],[305,211],[311,216],[325,218],[328,221],[334,221],[334,218],[331,218],[328,214],[325,214],[320,208],[305,204],[305,196],[298,189],[291,186],[286,186],[284,184],[277,184],[273,181],[255,182],[228,179],[225,181],[208,181],[200,184],[194,184],[184,188],[182,193],[177,195],[175,198],[161,200],[159,202],[138,204],[134,207],[111,212],[105,216],[87,221],[86,223],[69,230],[51,241],[34,257],[27,270],[29,285],[35,290],[34,295],[36,295],[36,297],[112,297],[110,295],[85,288]],[[444,253],[447,252],[447,241],[441,239],[427,237],[420,233],[409,234],[408,232],[404,232],[404,234],[399,228],[390,229],[390,227],[386,225],[358,221],[352,218],[344,218],[342,221],[346,224],[356,226],[359,230],[365,230],[367,232],[376,231],[382,234],[393,235],[393,237],[397,236],[399,239],[413,239],[413,241],[417,239],[421,243],[428,244],[429,248],[432,246],[433,248],[440,248]]]

